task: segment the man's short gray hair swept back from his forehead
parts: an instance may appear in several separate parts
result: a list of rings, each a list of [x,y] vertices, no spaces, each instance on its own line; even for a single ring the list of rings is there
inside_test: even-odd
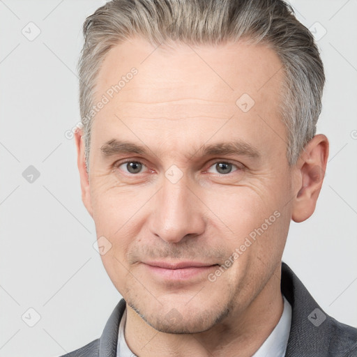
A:
[[[314,137],[321,112],[324,66],[312,33],[282,0],[112,0],[86,18],[78,62],[79,107],[89,169],[96,77],[107,52],[135,36],[155,47],[170,40],[216,45],[246,39],[278,54],[284,71],[282,121],[287,160],[294,165]]]

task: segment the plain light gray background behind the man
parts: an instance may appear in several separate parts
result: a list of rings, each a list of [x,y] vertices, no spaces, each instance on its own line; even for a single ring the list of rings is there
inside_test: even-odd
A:
[[[0,356],[81,347],[100,336],[121,297],[93,248],[75,143],[65,137],[79,121],[82,23],[104,2],[0,0]],[[331,153],[316,211],[291,222],[284,261],[328,314],[357,326],[357,3],[293,5],[318,38],[327,31],[319,39],[327,83],[318,132]],[[32,41],[22,34],[29,22],[41,31]],[[22,176],[29,165],[40,172],[33,183]],[[30,307],[40,314],[33,327]]]

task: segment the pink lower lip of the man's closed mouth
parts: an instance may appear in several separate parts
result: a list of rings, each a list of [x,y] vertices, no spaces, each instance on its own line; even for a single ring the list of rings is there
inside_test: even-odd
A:
[[[194,266],[192,268],[167,269],[160,266],[152,266],[144,264],[149,269],[150,273],[164,280],[190,280],[197,278],[200,275],[208,275],[208,273],[217,268],[217,265],[210,266]]]

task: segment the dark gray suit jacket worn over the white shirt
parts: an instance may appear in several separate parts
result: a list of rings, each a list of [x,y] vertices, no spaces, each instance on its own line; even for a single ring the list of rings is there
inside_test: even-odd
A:
[[[328,316],[285,263],[282,263],[281,289],[292,307],[285,357],[357,356],[357,328]],[[99,339],[62,357],[116,357],[118,328],[125,308],[126,302],[121,299]]]

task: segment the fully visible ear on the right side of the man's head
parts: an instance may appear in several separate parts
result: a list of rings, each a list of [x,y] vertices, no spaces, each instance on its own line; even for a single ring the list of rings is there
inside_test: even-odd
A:
[[[294,188],[292,220],[303,222],[314,213],[321,190],[328,159],[328,139],[325,135],[315,135],[301,153],[296,169],[299,183]]]

